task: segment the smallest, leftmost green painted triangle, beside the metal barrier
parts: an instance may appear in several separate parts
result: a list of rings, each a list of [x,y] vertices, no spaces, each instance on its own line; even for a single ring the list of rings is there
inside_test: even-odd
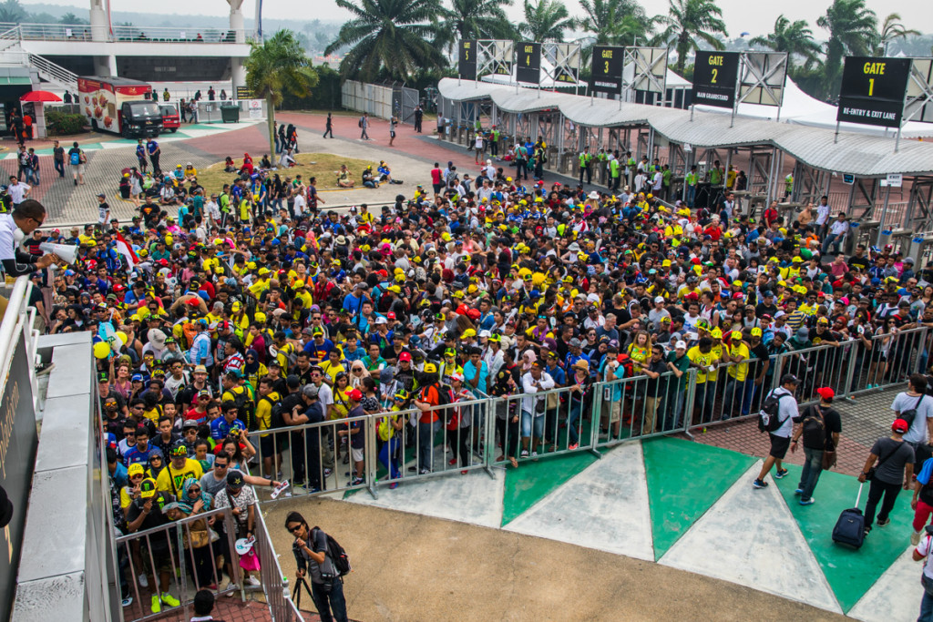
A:
[[[553,458],[545,456],[537,462],[525,460],[517,469],[507,467],[502,526],[519,518],[525,510],[597,460],[592,451],[574,451]]]

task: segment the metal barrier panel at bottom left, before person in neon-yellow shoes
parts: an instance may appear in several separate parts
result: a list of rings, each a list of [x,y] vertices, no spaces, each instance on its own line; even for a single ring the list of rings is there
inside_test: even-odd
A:
[[[161,510],[158,505],[154,505],[153,511]],[[206,525],[210,518],[214,518],[214,527],[209,527],[207,533],[210,536],[211,530],[217,532],[216,523],[220,520],[223,527],[220,539],[212,542],[209,537],[206,545],[192,546],[192,525],[197,523],[195,526],[200,528],[201,522]],[[132,582],[133,597],[132,605],[123,609],[123,619],[135,622],[164,615],[164,611],[169,607],[162,604],[162,612],[153,614],[150,610],[150,598],[162,593],[160,575],[166,571],[169,576],[169,589],[165,591],[180,601],[179,606],[184,610],[185,619],[190,615],[188,608],[194,602],[194,595],[199,589],[210,588],[216,596],[240,591],[243,598],[240,560],[234,546],[235,534],[236,520],[230,507],[222,507],[181,518],[154,529],[118,536],[116,548],[119,573],[123,580]],[[258,551],[261,553],[266,547],[260,545]],[[230,565],[233,572],[231,583],[236,586],[233,589],[221,588],[223,569],[217,567],[217,558],[220,555],[225,557],[224,561]],[[141,574],[146,574],[149,582],[146,598],[143,597],[139,585],[138,577]]]

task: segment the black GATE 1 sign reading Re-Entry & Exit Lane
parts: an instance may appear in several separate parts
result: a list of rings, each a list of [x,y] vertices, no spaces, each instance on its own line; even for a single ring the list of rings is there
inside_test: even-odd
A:
[[[837,121],[899,128],[911,59],[846,56]]]

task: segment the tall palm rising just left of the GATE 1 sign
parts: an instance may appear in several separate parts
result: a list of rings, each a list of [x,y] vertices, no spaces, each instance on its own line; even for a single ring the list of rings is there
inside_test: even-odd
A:
[[[826,48],[826,90],[836,92],[842,79],[842,57],[869,56],[878,40],[875,12],[865,7],[865,0],[833,0],[826,15],[816,20],[816,25],[829,31]]]

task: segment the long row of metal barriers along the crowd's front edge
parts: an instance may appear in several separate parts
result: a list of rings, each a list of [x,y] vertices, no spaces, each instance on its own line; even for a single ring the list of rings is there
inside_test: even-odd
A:
[[[862,393],[868,384],[882,389],[923,370],[931,347],[933,331],[912,328],[890,337],[847,339],[773,355],[760,384],[755,371],[761,362],[750,358],[717,365],[705,374],[690,367],[680,378],[667,371],[657,379],[641,374],[594,382],[583,394],[572,387],[537,393],[520,388],[515,394],[430,408],[426,413],[436,414],[437,422],[427,422],[433,417],[410,408],[249,436],[259,463],[271,457],[264,454],[270,443],[281,454],[276,461],[281,460],[283,477],[293,484],[291,496],[367,489],[376,497],[380,485],[394,488],[424,477],[478,470],[492,476],[510,458],[535,461],[576,451],[600,455],[598,449],[640,438],[692,437],[697,428],[757,417],[764,397],[787,373],[801,379],[801,407],[818,402],[815,390],[821,386],[832,387],[837,398]],[[869,382],[872,374],[879,380]],[[341,444],[340,434],[354,423],[360,430],[356,434],[364,435],[359,481],[352,451]],[[264,443],[265,435],[272,441]],[[522,449],[528,454],[523,456]],[[338,454],[350,459],[344,464]],[[310,481],[308,464],[314,465]]]

